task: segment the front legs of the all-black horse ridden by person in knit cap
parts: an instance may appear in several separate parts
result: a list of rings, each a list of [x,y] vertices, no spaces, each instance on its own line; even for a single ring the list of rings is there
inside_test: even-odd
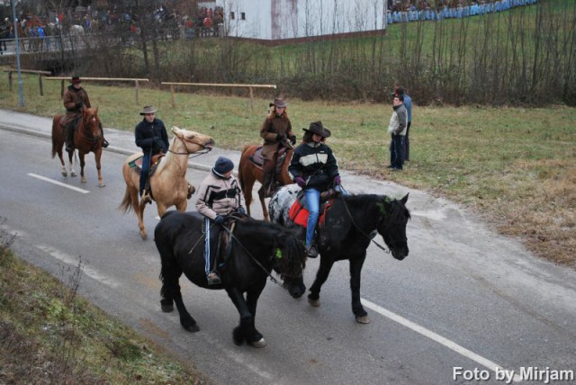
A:
[[[261,291],[262,290],[259,292]],[[226,292],[240,314],[240,323],[238,327],[234,327],[232,332],[234,344],[239,346],[244,344],[244,342],[247,342],[254,347],[266,346],[266,340],[260,333],[258,333],[256,327],[254,327],[254,315],[250,312],[250,307],[247,305],[247,301],[244,300],[242,293],[239,292],[238,289],[231,287],[226,288]],[[259,297],[259,293],[257,297]],[[251,301],[254,302],[251,307],[256,311],[257,298],[255,300],[254,295],[252,295]]]

